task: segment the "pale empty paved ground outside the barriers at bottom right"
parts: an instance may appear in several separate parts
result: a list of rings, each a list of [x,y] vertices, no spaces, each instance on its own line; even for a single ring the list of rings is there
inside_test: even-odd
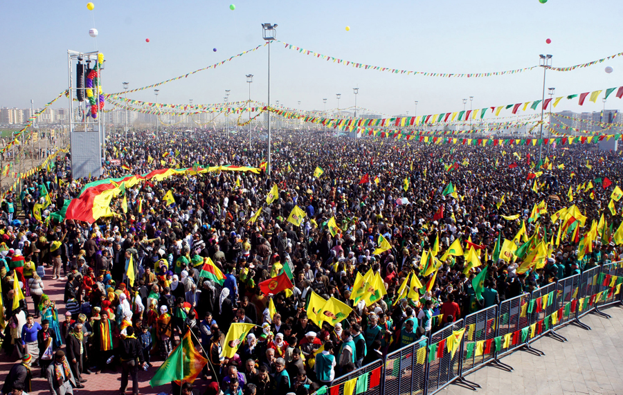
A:
[[[482,389],[478,394],[623,394],[623,308],[604,309],[611,319],[589,314],[581,319],[593,330],[575,325],[557,330],[568,342],[545,336],[532,345],[545,353],[534,356],[516,351],[501,361],[514,368],[507,372],[486,366],[466,376]],[[475,394],[449,385],[443,395]]]

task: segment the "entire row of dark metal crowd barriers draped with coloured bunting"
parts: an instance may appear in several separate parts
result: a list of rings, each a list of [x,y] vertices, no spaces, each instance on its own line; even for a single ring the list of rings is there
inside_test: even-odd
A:
[[[337,378],[315,395],[433,395],[453,382],[476,390],[480,385],[464,377],[472,371],[487,364],[512,371],[500,358],[520,348],[545,355],[532,347],[535,340],[552,336],[564,342],[556,329],[571,323],[590,330],[581,322],[588,313],[610,318],[600,309],[623,302],[622,283],[623,261],[590,268],[467,315],[385,360]]]

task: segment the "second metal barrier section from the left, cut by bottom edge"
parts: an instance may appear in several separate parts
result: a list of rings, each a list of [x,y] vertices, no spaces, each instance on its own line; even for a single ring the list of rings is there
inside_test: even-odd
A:
[[[388,353],[383,395],[424,394],[428,338]]]

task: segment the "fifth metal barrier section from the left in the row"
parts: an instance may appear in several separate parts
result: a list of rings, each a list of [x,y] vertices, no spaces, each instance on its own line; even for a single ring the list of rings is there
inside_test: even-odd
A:
[[[512,333],[513,340],[506,349],[496,351],[496,359],[512,353],[527,341],[522,336],[521,330],[528,327],[530,323],[530,316],[527,314],[530,300],[530,293],[524,293],[523,295],[500,302],[500,324],[498,325],[497,336],[504,337]],[[505,319],[506,316],[508,319]]]

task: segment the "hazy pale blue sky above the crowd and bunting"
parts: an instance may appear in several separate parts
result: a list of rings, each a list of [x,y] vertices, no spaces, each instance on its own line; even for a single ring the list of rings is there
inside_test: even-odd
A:
[[[0,107],[39,107],[66,89],[66,50],[101,50],[107,59],[106,93],[138,88],[214,64],[263,44],[260,24],[278,24],[277,38],[318,53],[355,62],[438,73],[505,71],[539,63],[554,55],[554,66],[572,66],[623,51],[615,32],[621,0],[412,0],[412,1],[87,1],[0,2]],[[94,18],[94,24],[93,24]],[[350,31],[345,30],[350,26]],[[96,39],[89,28],[97,28]],[[145,39],[149,38],[150,43]],[[545,44],[545,39],[552,44]],[[96,46],[97,44],[97,46]],[[217,48],[217,52],[213,52]],[[159,102],[195,104],[267,100],[267,48],[234,59],[215,70],[160,86]],[[606,74],[604,68],[614,72]],[[623,57],[589,68],[548,73],[546,86],[569,95],[623,85]],[[543,73],[485,78],[440,78],[366,71],[301,55],[271,45],[271,102],[302,109],[357,104],[384,113],[440,113],[514,104],[541,98]],[[154,101],[153,89],[129,95]],[[57,107],[67,107],[62,99]],[[469,103],[468,109],[469,109]],[[563,99],[558,110],[599,111],[586,100]],[[611,95],[608,109],[621,108]],[[510,110],[506,111],[507,113]],[[503,111],[503,114],[505,112]],[[530,113],[530,111],[528,111]]]

